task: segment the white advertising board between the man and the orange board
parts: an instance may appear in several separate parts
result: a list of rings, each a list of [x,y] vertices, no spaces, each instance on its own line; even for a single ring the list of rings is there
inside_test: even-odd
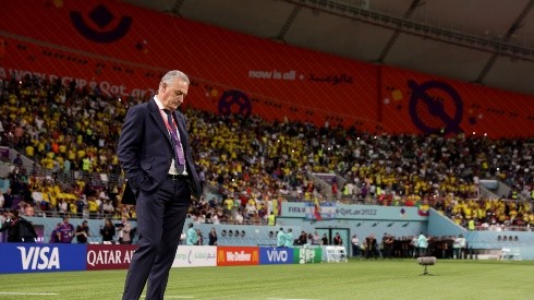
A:
[[[172,267],[217,266],[217,247],[180,245]]]

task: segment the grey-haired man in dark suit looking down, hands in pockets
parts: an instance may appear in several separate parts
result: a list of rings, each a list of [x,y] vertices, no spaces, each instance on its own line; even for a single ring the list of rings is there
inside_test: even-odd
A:
[[[138,248],[126,275],[122,299],[163,299],[191,196],[202,194],[189,144],[185,118],[175,109],[190,80],[168,72],[157,95],[129,109],[118,156],[136,199]]]

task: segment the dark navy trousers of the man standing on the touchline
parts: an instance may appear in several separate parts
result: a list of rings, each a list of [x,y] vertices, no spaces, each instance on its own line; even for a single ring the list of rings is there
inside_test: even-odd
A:
[[[141,191],[135,207],[138,248],[126,275],[123,300],[162,300],[187,214],[191,192],[185,180],[167,179],[154,194]]]

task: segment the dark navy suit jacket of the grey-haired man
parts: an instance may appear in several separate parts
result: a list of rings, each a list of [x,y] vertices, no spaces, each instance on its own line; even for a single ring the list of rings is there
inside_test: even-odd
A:
[[[185,118],[179,111],[174,111],[173,116],[190,175],[187,183],[192,195],[199,199],[202,188],[193,164]],[[119,139],[118,157],[133,194],[137,194],[139,189],[147,193],[155,192],[167,179],[174,151],[169,131],[154,99],[129,109]]]

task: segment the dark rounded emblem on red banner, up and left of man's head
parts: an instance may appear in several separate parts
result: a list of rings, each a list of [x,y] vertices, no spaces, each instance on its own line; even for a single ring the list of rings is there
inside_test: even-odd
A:
[[[87,15],[71,11],[71,22],[76,31],[87,39],[109,44],[124,37],[132,26],[131,16],[121,16],[120,20],[104,4],[94,8]]]

